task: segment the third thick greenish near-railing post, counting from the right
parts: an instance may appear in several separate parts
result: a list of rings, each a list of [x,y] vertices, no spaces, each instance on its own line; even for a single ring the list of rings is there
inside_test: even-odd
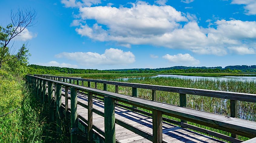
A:
[[[61,84],[55,84],[55,96],[56,96],[56,128],[57,128],[57,136],[60,137],[62,135],[62,110],[61,110]]]

